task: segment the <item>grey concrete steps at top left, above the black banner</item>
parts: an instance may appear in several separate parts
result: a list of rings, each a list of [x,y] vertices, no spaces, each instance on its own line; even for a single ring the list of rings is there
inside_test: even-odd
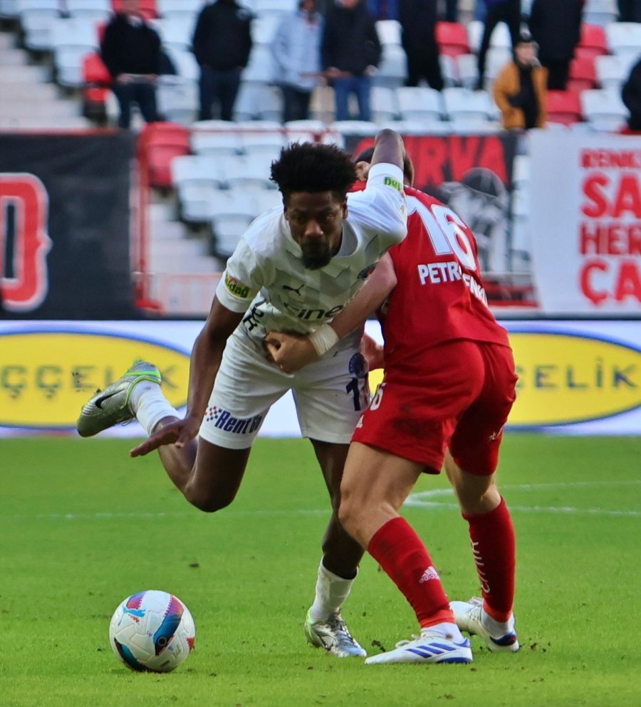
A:
[[[31,66],[15,35],[0,32],[0,130],[74,130],[93,125],[80,115],[78,100],[61,98],[48,83],[48,68]]]

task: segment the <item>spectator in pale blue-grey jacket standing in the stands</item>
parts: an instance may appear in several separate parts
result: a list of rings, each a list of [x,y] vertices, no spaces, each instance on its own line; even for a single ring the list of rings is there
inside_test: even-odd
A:
[[[323,18],[316,0],[300,0],[298,10],[283,16],[271,43],[276,83],[283,91],[283,122],[307,120],[309,102],[320,75]]]

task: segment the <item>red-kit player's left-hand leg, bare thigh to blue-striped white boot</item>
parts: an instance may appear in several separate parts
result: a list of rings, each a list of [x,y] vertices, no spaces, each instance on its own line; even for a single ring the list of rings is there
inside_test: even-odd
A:
[[[368,664],[469,663],[469,641],[454,622],[434,562],[419,535],[399,515],[424,465],[353,442],[345,464],[340,520],[379,563],[414,609],[421,635],[372,656]]]

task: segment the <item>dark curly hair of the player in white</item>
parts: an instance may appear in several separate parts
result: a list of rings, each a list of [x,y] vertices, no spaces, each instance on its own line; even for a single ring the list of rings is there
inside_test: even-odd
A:
[[[293,192],[335,192],[344,199],[356,172],[350,155],[335,145],[293,142],[271,163],[271,181],[285,200]]]

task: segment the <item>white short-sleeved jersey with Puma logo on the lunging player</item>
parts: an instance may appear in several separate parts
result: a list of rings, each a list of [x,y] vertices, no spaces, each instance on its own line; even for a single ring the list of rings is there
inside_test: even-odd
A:
[[[249,309],[239,329],[258,343],[269,330],[308,334],[332,320],[383,253],[405,238],[402,183],[402,171],[394,164],[370,169],[367,187],[348,194],[338,253],[317,270],[303,266],[301,246],[293,240],[281,207],[259,216],[227,261],[216,290],[226,308]]]

